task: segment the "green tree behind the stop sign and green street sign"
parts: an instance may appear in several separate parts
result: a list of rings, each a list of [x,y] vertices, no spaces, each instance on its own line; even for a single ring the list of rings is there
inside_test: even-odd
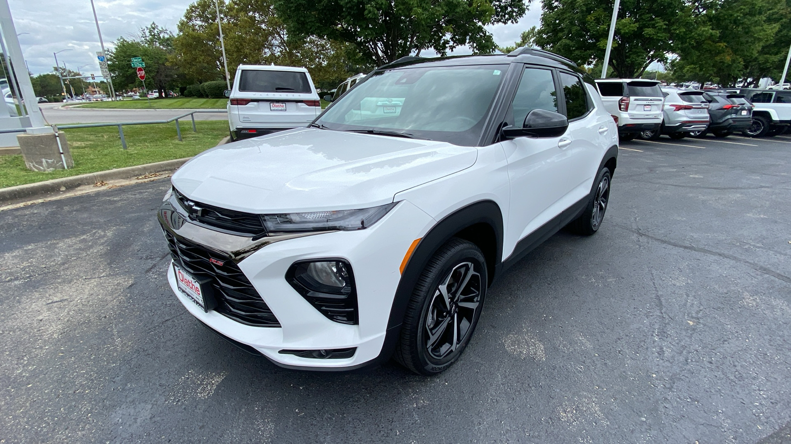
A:
[[[141,85],[137,68],[131,66],[131,58],[140,57],[146,63],[146,81],[164,97],[179,72],[172,63],[173,40],[175,37],[166,28],[152,23],[141,28],[129,39],[119,37],[115,47],[108,51],[108,69],[115,88],[134,88]]]

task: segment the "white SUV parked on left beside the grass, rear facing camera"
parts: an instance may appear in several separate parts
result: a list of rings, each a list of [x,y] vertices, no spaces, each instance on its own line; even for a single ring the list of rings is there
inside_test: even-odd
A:
[[[321,114],[319,94],[305,68],[240,65],[225,96],[233,140],[308,126]]]

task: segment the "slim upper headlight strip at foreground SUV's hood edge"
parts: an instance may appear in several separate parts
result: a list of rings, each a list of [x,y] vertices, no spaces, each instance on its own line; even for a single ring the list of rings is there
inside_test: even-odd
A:
[[[395,204],[366,209],[316,211],[312,213],[264,214],[261,216],[267,232],[362,230],[376,224]]]

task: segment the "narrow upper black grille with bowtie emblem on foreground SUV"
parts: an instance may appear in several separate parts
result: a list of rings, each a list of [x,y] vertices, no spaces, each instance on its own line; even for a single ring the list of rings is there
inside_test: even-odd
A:
[[[176,200],[181,208],[186,211],[191,220],[225,231],[232,231],[242,235],[262,235],[266,232],[263,228],[261,217],[253,213],[243,213],[233,209],[224,209],[214,205],[193,201],[175,188]]]

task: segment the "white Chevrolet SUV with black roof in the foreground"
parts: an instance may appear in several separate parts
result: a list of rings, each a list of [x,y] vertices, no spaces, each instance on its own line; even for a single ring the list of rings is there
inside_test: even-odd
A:
[[[282,367],[395,356],[436,374],[495,277],[566,225],[596,233],[617,155],[615,122],[565,58],[405,58],[308,128],[176,171],[158,213],[168,282],[203,324]]]

